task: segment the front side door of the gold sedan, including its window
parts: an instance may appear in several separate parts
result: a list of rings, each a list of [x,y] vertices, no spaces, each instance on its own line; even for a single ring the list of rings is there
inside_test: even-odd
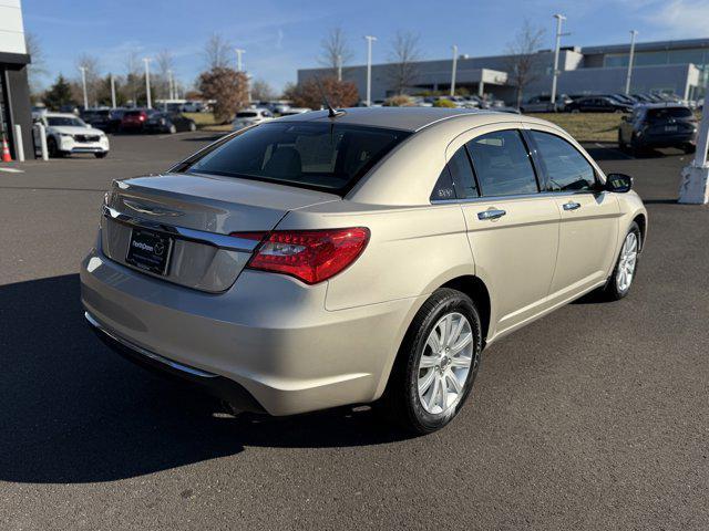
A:
[[[525,135],[543,175],[543,189],[561,217],[558,259],[551,298],[573,298],[603,283],[610,272],[620,209],[599,187],[598,168],[580,146],[557,129],[530,126]]]

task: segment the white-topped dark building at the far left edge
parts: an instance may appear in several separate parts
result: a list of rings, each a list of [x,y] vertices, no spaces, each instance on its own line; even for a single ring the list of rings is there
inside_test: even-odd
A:
[[[22,129],[24,154],[29,157],[33,153],[29,63],[20,0],[0,0],[0,140],[4,134],[13,159],[16,124]]]

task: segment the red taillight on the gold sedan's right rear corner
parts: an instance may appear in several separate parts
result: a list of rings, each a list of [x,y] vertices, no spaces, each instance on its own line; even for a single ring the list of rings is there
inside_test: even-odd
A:
[[[247,268],[289,274],[316,284],[357,260],[369,241],[369,229],[276,230],[232,236],[260,241]]]

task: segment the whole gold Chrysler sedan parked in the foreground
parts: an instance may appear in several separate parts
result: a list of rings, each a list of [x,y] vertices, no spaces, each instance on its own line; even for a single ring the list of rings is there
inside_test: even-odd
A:
[[[592,290],[628,293],[647,230],[630,184],[530,117],[290,116],[115,181],[82,301],[117,351],[234,409],[382,398],[432,431],[484,345]]]

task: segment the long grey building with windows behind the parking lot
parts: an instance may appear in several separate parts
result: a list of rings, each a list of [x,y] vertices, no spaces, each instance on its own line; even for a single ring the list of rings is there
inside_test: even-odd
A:
[[[630,45],[564,46],[559,53],[559,94],[604,94],[625,92]],[[709,61],[709,39],[643,42],[635,45],[630,93],[671,93],[686,100],[703,97],[705,66]],[[508,72],[513,55],[471,58],[461,55],[455,71],[455,86],[474,94],[513,103],[515,87]],[[554,52],[541,50],[533,55],[534,81],[524,87],[524,100],[551,93]],[[450,91],[453,60],[417,61],[410,93]],[[394,94],[391,64],[372,65],[372,100]],[[298,83],[315,75],[331,75],[328,69],[298,71]],[[343,69],[342,79],[357,85],[360,97],[367,94],[367,66]]]

